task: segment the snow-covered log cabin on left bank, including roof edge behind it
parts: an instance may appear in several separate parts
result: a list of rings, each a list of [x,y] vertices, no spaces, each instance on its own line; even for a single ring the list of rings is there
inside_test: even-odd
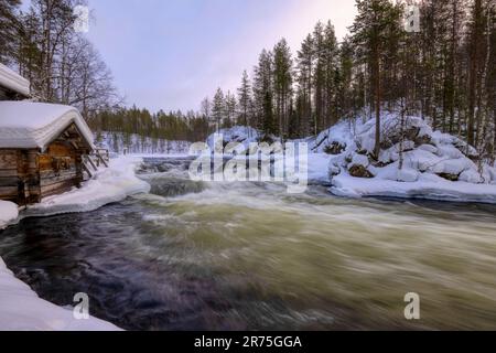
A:
[[[77,109],[4,100],[29,97],[21,78],[0,67],[0,200],[25,205],[79,186],[95,147]]]

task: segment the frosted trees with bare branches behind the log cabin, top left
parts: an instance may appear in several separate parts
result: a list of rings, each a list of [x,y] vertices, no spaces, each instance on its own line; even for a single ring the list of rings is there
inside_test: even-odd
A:
[[[0,62],[31,82],[35,99],[79,108],[90,120],[121,101],[93,44],[74,29],[85,0],[0,0]]]

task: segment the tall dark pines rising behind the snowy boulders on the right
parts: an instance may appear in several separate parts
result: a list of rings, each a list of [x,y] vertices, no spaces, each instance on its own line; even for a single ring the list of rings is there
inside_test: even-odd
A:
[[[425,0],[418,19],[409,2],[357,0],[349,35],[338,43],[331,22],[317,23],[294,57],[281,40],[251,79],[242,74],[236,97],[219,88],[202,115],[215,128],[246,124],[285,139],[375,117],[377,156],[387,109],[430,119],[494,158],[495,0]]]

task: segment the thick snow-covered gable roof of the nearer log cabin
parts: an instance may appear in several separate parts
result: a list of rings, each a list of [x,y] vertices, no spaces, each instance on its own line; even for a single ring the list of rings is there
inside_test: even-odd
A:
[[[76,108],[32,101],[0,101],[0,148],[44,150],[73,122],[88,146],[94,148],[91,130]]]

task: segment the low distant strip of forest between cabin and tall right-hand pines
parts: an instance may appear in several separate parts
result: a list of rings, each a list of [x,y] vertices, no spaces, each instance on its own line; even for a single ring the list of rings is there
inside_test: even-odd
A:
[[[154,140],[203,141],[208,136],[208,121],[198,113],[181,111],[152,114],[148,109],[119,107],[95,115],[89,126],[97,135],[101,131],[121,132],[125,139],[131,135]]]

